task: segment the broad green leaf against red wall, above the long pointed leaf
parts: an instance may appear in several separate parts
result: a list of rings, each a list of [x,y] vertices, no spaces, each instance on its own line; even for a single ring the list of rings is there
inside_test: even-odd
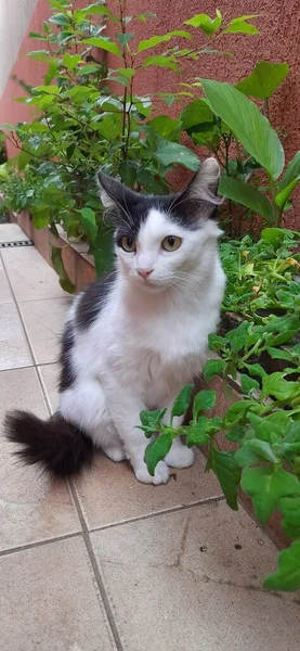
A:
[[[236,88],[247,95],[266,100],[273,95],[276,88],[288,76],[287,63],[270,63],[259,61],[248,77],[242,79]]]

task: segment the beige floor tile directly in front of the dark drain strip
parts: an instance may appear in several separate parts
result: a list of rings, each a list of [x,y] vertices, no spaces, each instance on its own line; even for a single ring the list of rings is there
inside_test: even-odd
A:
[[[34,246],[3,250],[2,258],[17,301],[65,296],[55,271]]]

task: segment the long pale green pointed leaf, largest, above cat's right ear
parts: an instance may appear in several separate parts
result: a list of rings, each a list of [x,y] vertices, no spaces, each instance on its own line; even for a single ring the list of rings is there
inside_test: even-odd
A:
[[[210,79],[201,79],[201,82],[212,110],[276,180],[284,168],[284,149],[269,120],[253,102],[230,84]]]

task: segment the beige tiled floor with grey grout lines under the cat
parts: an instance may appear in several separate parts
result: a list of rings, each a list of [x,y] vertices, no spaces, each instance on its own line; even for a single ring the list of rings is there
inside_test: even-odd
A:
[[[0,242],[22,238],[0,226]],[[47,417],[69,298],[35,248],[0,253],[1,420]],[[17,465],[1,438],[1,651],[298,650],[299,596],[261,589],[276,549],[204,468],[198,455],[152,487],[99,455],[65,484]]]

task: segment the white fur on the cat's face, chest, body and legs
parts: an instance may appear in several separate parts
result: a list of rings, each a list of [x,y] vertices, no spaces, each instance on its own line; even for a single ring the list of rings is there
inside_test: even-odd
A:
[[[193,463],[193,451],[177,439],[152,477],[144,463],[148,441],[136,425],[142,409],[168,407],[170,413],[179,391],[206,360],[225,283],[220,232],[209,219],[188,230],[151,209],[136,253],[117,250],[117,280],[99,317],[88,330],[76,331],[77,381],[61,394],[61,413],[115,461],[126,456],[144,483],[166,483],[168,465]],[[161,247],[168,235],[182,238],[174,252]],[[138,268],[152,270],[146,281]]]

